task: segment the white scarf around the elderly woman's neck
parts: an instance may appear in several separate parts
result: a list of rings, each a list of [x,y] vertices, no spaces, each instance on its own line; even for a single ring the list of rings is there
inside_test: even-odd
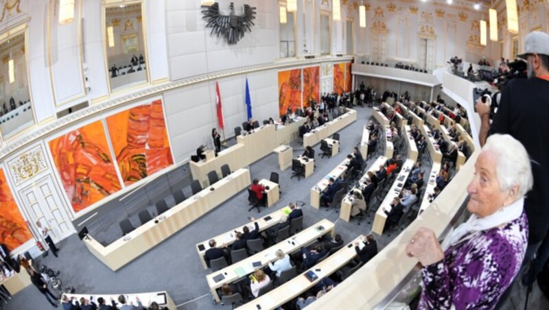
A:
[[[512,204],[509,204],[509,206],[504,206],[487,217],[479,218],[475,214],[471,215],[467,222],[461,224],[455,230],[450,230],[442,243],[442,249],[447,250],[447,248],[454,246],[461,241],[464,236],[469,235],[470,233],[477,233],[482,230],[498,227],[519,218],[520,215],[522,215],[523,206],[524,198],[520,198]]]

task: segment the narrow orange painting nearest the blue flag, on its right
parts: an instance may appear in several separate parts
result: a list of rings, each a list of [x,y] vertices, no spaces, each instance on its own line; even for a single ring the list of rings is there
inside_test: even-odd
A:
[[[301,69],[279,71],[279,113],[301,108]]]

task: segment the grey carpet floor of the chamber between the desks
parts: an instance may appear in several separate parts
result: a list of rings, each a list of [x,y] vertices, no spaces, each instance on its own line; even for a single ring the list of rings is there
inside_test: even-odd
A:
[[[301,201],[305,202],[304,226],[310,226],[320,219],[329,219],[336,223],[336,233],[342,235],[346,242],[360,234],[366,235],[370,232],[369,219],[371,218],[358,226],[355,220],[349,223],[338,220],[339,214],[334,208],[326,211],[326,209],[316,210],[309,206],[311,187],[338,165],[362,139],[362,127],[371,117],[371,109],[357,109],[357,121],[340,131],[339,154],[334,158],[317,156],[316,170],[309,178],[290,179],[290,169],[279,171],[276,154],[270,154],[250,165],[252,178],[269,178],[271,171],[280,174],[281,199],[271,208],[262,209],[261,215],[276,211],[288,205],[289,202]],[[303,152],[303,146],[299,143],[294,142],[292,146],[294,155]],[[314,149],[316,154],[320,154],[320,145],[316,145]],[[371,165],[374,160],[375,158],[369,160],[368,164]],[[423,165],[426,171],[430,170],[431,165],[428,160],[424,159]],[[190,193],[190,189],[184,191],[186,194]],[[76,235],[58,245],[61,249],[58,258],[50,255],[36,261],[60,270],[60,278],[64,286],[72,285],[78,293],[118,294],[165,290],[176,302],[178,309],[224,309],[228,307],[215,306],[211,302],[205,278],[208,271],[202,268],[195,245],[245,224],[248,222],[248,215],[257,215],[257,211],[248,213],[247,210],[247,193],[242,191],[117,272],[111,271],[95,259]],[[384,248],[394,237],[395,234],[390,237],[379,237],[377,239],[379,249]],[[540,297],[539,289],[537,296],[537,300],[544,301],[543,297]],[[52,309],[52,307],[36,287],[31,285],[13,296],[3,309]]]

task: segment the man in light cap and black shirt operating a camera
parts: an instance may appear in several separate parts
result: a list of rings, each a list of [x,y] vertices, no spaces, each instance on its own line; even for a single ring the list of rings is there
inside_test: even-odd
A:
[[[511,134],[526,147],[531,158],[534,187],[524,202],[529,226],[524,267],[533,259],[538,248],[538,265],[545,263],[549,255],[547,246],[540,248],[541,242],[547,239],[549,228],[549,34],[528,34],[524,40],[524,53],[518,57],[528,63],[528,79],[514,79],[504,87],[498,112],[491,125],[491,102],[487,100],[484,104],[478,99],[476,109],[482,120],[479,133],[481,146],[489,134]],[[535,279],[535,274],[531,275],[533,277],[530,278]]]

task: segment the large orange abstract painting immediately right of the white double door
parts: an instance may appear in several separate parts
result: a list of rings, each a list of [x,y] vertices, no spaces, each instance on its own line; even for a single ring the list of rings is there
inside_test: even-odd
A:
[[[49,148],[75,212],[121,189],[101,121],[49,141]]]

